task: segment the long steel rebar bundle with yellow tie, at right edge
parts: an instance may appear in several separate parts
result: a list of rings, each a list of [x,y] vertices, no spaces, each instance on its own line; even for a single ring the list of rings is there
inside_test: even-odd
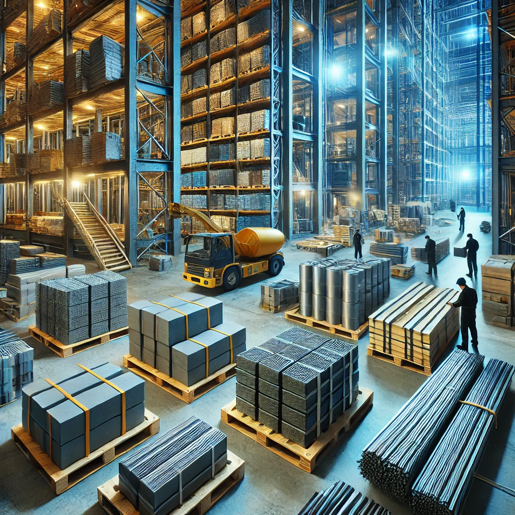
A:
[[[410,507],[415,515],[461,513],[514,370],[490,359],[466,398],[474,405],[460,405],[413,485]]]

